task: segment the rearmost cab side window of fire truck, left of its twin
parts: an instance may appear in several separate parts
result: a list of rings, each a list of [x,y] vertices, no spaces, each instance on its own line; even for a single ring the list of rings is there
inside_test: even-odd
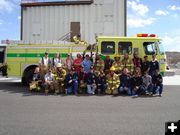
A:
[[[101,43],[102,54],[114,54],[115,53],[115,42],[105,41]]]

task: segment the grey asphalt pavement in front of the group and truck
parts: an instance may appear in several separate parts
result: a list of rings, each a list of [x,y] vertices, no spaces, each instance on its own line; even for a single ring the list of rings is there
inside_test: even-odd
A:
[[[0,135],[164,135],[180,120],[180,86],[163,97],[45,96],[0,81]]]

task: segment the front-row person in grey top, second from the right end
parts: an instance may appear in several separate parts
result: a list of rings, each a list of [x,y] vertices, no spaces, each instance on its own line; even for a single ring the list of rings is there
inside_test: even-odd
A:
[[[153,90],[152,77],[148,74],[148,70],[144,72],[142,79],[143,79],[143,91],[144,91],[144,93],[152,94],[152,90]]]

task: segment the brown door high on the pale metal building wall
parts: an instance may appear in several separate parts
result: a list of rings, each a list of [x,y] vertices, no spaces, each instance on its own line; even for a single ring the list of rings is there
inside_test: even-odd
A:
[[[80,22],[71,22],[71,42],[73,42],[73,37],[80,34]]]

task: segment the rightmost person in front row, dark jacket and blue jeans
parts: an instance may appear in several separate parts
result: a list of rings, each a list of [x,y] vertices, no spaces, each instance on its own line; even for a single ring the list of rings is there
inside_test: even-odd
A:
[[[153,94],[159,93],[159,96],[162,97],[163,92],[163,78],[159,70],[156,70],[155,75],[152,77],[153,82]]]

